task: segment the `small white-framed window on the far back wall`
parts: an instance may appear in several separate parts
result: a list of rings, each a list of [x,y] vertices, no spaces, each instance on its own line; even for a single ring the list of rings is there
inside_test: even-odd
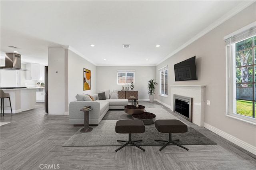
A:
[[[135,71],[134,70],[118,70],[117,84],[125,85],[130,83],[135,83]]]

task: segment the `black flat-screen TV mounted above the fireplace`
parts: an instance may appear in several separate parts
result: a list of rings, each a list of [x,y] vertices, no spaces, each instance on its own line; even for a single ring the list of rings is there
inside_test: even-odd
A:
[[[196,56],[174,64],[175,81],[197,80]]]

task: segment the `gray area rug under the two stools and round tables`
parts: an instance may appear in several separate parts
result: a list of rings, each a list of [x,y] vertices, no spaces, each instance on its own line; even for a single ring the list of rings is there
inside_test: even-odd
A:
[[[147,112],[154,113],[156,119],[178,119],[162,108],[149,108]],[[128,140],[128,134],[119,134],[115,132],[116,122],[118,120],[132,119],[131,115],[124,113],[123,110],[109,110],[98,126],[92,126],[93,130],[88,133],[81,133],[81,127],[63,146],[122,146],[124,142],[116,140]],[[140,140],[136,142],[140,146],[145,145],[163,145],[165,142],[157,142],[154,139],[168,140],[166,133],[156,130],[155,125],[145,125],[144,133],[132,134],[132,140]],[[216,144],[197,130],[188,127],[186,133],[173,133],[172,140],[182,145],[201,145]]]

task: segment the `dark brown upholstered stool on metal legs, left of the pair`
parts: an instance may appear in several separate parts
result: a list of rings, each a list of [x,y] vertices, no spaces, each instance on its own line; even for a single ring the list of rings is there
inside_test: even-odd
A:
[[[122,149],[124,146],[128,144],[132,144],[141,150],[145,152],[145,149],[138,146],[134,142],[142,141],[142,140],[135,140],[132,141],[132,133],[143,133],[145,132],[145,125],[140,120],[120,120],[116,122],[116,132],[117,133],[128,133],[129,134],[129,140],[117,140],[118,142],[126,142],[124,145],[122,145],[120,148],[116,149],[116,152],[120,149]]]

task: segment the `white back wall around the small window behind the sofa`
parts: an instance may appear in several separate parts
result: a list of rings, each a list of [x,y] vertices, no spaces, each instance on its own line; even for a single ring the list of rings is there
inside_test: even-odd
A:
[[[100,90],[122,90],[122,85],[117,85],[118,70],[135,70],[134,90],[138,91],[139,100],[149,100],[148,80],[156,79],[155,66],[97,66],[97,93]]]

